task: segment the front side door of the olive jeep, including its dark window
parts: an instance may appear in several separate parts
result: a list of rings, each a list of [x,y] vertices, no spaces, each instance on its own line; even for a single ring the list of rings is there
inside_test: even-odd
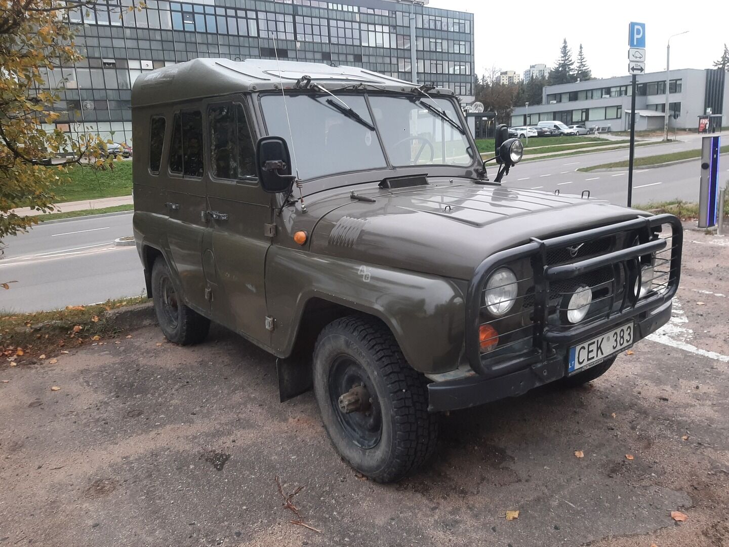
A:
[[[208,104],[208,234],[203,253],[213,319],[265,346],[265,256],[270,195],[255,176],[254,146],[241,102]]]

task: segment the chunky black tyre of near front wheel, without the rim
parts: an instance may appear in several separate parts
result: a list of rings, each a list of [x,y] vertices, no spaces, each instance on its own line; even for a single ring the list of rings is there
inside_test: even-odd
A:
[[[332,401],[330,379],[338,359],[359,365],[376,392],[381,436],[371,448],[353,440]],[[382,483],[399,481],[432,456],[438,416],[428,412],[426,381],[408,365],[394,336],[378,319],[348,316],[324,327],[314,349],[313,385],[332,444],[364,476]]]

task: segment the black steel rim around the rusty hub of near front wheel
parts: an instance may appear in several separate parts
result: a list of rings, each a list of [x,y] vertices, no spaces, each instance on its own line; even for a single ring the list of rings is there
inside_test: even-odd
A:
[[[350,389],[362,386],[369,394],[369,408],[345,414],[340,411],[339,397]],[[352,442],[362,449],[371,449],[382,436],[382,411],[375,387],[362,365],[348,355],[335,358],[329,373],[330,403],[339,423]]]

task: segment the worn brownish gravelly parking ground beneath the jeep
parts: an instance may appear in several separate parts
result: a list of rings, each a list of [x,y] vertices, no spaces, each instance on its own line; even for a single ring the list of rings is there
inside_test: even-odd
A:
[[[663,335],[587,387],[443,416],[434,462],[394,485],[221,328],[0,368],[0,546],[729,546],[729,241],[685,240]]]

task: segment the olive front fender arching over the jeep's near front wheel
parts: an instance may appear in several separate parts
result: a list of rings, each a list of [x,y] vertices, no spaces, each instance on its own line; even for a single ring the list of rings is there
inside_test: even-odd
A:
[[[312,299],[381,319],[417,371],[451,371],[463,351],[464,297],[451,279],[276,246],[266,258],[266,296],[278,357],[292,354]]]

